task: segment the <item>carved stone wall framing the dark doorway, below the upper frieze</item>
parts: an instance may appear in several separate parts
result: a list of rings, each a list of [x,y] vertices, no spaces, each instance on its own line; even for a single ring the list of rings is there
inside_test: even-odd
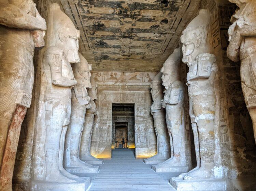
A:
[[[155,155],[156,137],[150,114],[152,98],[149,86],[99,84],[98,116],[91,140],[91,154],[98,158],[111,158],[112,103],[134,104],[136,157]],[[149,118],[151,123],[148,123]]]

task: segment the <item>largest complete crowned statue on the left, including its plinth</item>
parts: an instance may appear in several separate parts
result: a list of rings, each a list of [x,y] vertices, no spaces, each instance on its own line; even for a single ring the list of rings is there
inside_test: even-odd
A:
[[[86,189],[89,178],[81,179],[63,168],[65,135],[70,122],[71,88],[77,84],[70,63],[80,62],[80,32],[56,3],[49,7],[47,29],[41,63],[40,124],[37,129],[37,134],[41,136],[37,137],[35,145],[31,190],[57,188],[82,191]]]

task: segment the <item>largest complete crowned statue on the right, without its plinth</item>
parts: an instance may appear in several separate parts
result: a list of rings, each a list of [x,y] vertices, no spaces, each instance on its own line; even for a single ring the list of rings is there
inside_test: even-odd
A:
[[[180,175],[184,180],[202,180],[214,178],[214,118],[216,58],[210,54],[211,44],[208,38],[210,16],[207,10],[200,10],[183,31],[182,61],[188,65],[187,73],[190,118],[193,123],[195,144],[199,140],[198,165],[188,173]],[[196,125],[197,124],[197,125]],[[197,131],[195,128],[197,127]],[[197,132],[198,137],[197,138]],[[196,145],[196,151],[198,145]],[[200,157],[198,157],[200,155]]]

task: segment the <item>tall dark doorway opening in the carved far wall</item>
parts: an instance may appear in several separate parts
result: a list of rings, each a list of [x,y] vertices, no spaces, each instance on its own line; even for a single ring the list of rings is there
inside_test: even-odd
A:
[[[112,104],[112,149],[134,149],[134,104]]]

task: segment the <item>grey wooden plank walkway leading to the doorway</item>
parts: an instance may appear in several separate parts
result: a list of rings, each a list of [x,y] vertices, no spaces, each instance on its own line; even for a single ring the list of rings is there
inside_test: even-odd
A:
[[[112,159],[104,160],[100,172],[92,180],[90,191],[169,191],[166,180],[142,160],[134,158],[134,150],[112,150]]]

